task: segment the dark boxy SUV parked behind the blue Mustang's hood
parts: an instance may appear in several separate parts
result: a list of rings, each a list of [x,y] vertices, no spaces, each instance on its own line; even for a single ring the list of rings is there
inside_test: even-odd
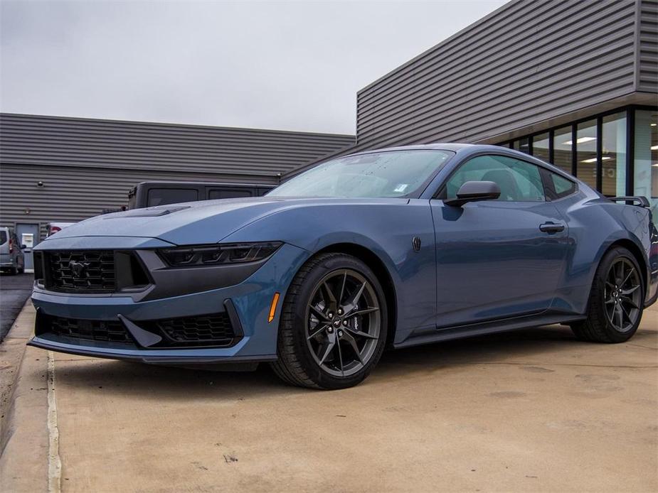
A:
[[[186,181],[144,181],[128,192],[128,208],[153,207],[196,200],[260,197],[274,185],[206,183]]]

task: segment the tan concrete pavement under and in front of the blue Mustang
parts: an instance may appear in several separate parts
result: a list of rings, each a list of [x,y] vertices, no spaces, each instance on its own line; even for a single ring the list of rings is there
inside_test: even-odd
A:
[[[65,492],[658,490],[654,309],[625,344],[553,326],[418,347],[344,391],[66,354],[55,375]],[[46,378],[28,348],[7,491],[46,487]]]

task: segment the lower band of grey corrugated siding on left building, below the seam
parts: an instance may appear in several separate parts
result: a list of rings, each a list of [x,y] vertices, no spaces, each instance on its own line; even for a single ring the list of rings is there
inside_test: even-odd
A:
[[[128,204],[128,190],[151,180],[255,183],[248,175],[2,164],[0,224],[77,222]],[[43,182],[43,187],[37,183]],[[258,183],[276,184],[275,178]],[[26,212],[29,211],[29,212]]]

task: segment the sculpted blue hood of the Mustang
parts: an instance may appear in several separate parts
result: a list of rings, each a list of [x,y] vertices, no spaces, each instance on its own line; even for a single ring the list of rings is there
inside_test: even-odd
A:
[[[62,229],[42,244],[48,248],[51,239],[60,243],[65,238],[80,237],[156,238],[172,244],[216,243],[262,217],[291,207],[391,201],[399,203],[400,199],[250,197],[186,202],[91,217]]]

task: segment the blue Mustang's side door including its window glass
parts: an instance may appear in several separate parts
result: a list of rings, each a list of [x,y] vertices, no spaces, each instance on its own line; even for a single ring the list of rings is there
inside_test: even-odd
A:
[[[467,181],[494,181],[498,200],[445,205]],[[437,258],[437,326],[546,310],[568,251],[568,230],[547,202],[539,167],[511,156],[469,158],[431,200]]]

